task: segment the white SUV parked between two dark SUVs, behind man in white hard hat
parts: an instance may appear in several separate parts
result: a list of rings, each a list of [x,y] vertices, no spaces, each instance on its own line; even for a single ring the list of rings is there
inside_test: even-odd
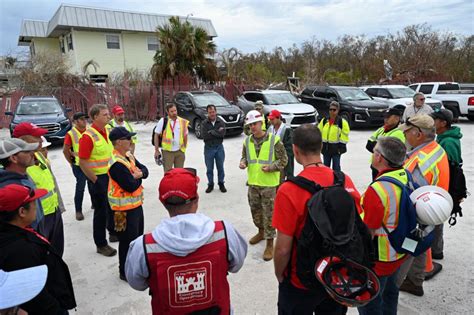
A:
[[[263,102],[265,115],[274,109],[280,111],[285,124],[291,128],[302,124],[314,124],[317,121],[318,112],[314,107],[301,103],[290,91],[286,90],[246,91],[239,96],[237,106],[248,113],[254,109],[257,101]]]

